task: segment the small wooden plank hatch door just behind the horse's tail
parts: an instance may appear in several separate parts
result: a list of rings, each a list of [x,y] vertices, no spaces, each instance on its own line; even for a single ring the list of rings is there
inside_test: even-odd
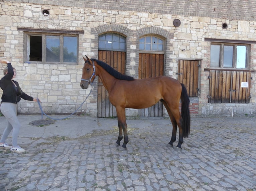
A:
[[[185,85],[189,97],[198,96],[199,61],[179,60],[178,81]]]

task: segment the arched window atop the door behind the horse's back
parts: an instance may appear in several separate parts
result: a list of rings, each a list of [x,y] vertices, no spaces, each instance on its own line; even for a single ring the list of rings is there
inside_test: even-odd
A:
[[[155,36],[140,38],[139,49],[144,51],[163,51],[163,40]]]

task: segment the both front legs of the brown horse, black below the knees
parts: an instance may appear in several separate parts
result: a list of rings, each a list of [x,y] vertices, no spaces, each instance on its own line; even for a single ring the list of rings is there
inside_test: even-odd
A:
[[[123,139],[122,131],[124,132],[124,143],[122,145],[123,148],[126,148],[126,144],[129,142],[128,135],[127,135],[127,124],[125,118],[125,108],[116,107],[117,112],[117,121],[118,121],[118,139],[116,141],[117,144],[120,145],[120,141]]]

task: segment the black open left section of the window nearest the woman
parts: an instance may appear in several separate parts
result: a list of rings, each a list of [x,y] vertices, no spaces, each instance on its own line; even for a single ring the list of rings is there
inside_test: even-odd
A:
[[[42,62],[42,37],[30,36],[29,61]]]

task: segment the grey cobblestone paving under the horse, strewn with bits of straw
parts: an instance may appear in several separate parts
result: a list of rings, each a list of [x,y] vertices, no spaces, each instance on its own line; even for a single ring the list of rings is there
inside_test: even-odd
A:
[[[126,150],[114,144],[117,126],[79,138],[31,137],[22,154],[1,150],[0,190],[256,190],[256,118],[191,118],[182,151],[166,147],[169,120],[136,121],[127,120]]]

